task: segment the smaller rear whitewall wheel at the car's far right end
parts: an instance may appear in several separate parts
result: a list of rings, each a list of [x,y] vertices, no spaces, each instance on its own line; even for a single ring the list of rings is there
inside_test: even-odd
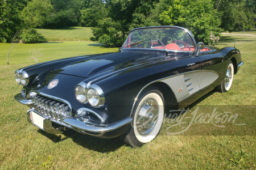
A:
[[[228,65],[228,69],[226,70],[224,81],[220,84],[220,92],[227,92],[230,90],[232,86],[233,78],[234,78],[234,65],[233,65],[233,62],[230,61]]]

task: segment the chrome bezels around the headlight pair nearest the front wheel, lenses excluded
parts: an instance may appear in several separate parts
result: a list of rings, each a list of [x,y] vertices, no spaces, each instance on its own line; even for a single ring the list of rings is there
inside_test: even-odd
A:
[[[76,89],[77,89],[77,87],[79,87],[79,86],[81,86],[83,89],[84,89],[84,91],[85,91],[85,100],[84,101],[80,101],[78,98],[79,97],[77,97],[77,94],[76,94]],[[95,95],[95,97],[93,97],[94,99],[95,98],[98,98],[98,102],[96,103],[96,104],[94,104],[91,100],[90,100],[90,98],[88,97],[88,91],[95,91],[96,92],[96,95]],[[81,82],[81,83],[79,83],[79,84],[77,84],[77,86],[75,87],[75,95],[76,95],[76,99],[80,102],[80,103],[83,103],[83,104],[85,104],[85,103],[89,103],[92,107],[94,107],[94,108],[100,108],[100,107],[103,107],[104,106],[104,104],[105,104],[105,96],[104,96],[104,92],[102,91],[102,89],[98,86],[98,85],[96,85],[96,84],[90,84],[90,83],[88,83],[88,84],[86,84],[86,83],[84,83],[84,82]]]

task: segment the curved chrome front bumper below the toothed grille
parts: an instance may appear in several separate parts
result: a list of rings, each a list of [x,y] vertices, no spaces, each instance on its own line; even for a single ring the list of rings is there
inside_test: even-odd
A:
[[[34,108],[32,107],[32,100],[26,99],[26,97],[23,94],[17,94],[14,98],[17,101],[19,101],[19,103],[28,105],[28,107],[31,108],[27,112],[27,121],[28,122],[35,125],[30,118],[30,114],[32,114],[32,112],[38,114],[40,117],[43,118],[43,127],[39,127],[37,125],[35,125],[35,126],[46,131],[47,133],[51,133],[51,134],[63,133],[65,128],[69,128],[69,129],[79,131],[80,133],[100,137],[109,131],[113,131],[113,130],[122,128],[123,126],[129,124],[132,120],[131,117],[126,117],[126,118],[123,118],[122,120],[115,121],[110,124],[104,124],[103,126],[92,126],[92,125],[86,124],[85,122],[79,121],[76,118],[65,117],[63,119],[63,123],[60,123],[60,122],[53,120],[49,116],[42,115],[42,114],[38,113],[37,111],[35,111]],[[55,127],[53,127],[53,124],[55,125]]]

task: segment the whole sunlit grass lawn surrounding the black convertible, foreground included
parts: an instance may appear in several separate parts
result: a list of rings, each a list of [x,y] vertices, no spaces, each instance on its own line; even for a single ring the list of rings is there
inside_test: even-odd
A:
[[[21,90],[14,71],[32,64],[28,50],[41,49],[40,61],[89,53],[114,52],[94,42],[63,41],[20,44],[5,65],[9,44],[0,44],[0,169],[255,169],[255,56],[256,37],[225,35],[217,47],[240,49],[244,62],[234,76],[229,92],[212,91],[191,105],[205,113],[238,114],[237,123],[246,126],[218,128],[213,124],[193,124],[187,133],[169,135],[164,122],[159,136],[140,148],[131,148],[113,139],[100,139],[72,130],[47,134],[26,120],[27,107],[14,100]],[[175,127],[173,130],[179,130]]]

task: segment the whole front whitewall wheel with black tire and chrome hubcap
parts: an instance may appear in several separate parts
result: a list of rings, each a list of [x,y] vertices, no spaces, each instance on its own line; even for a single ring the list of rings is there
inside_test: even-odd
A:
[[[164,99],[159,90],[143,92],[133,113],[125,142],[138,147],[152,141],[159,133],[164,116]]]

